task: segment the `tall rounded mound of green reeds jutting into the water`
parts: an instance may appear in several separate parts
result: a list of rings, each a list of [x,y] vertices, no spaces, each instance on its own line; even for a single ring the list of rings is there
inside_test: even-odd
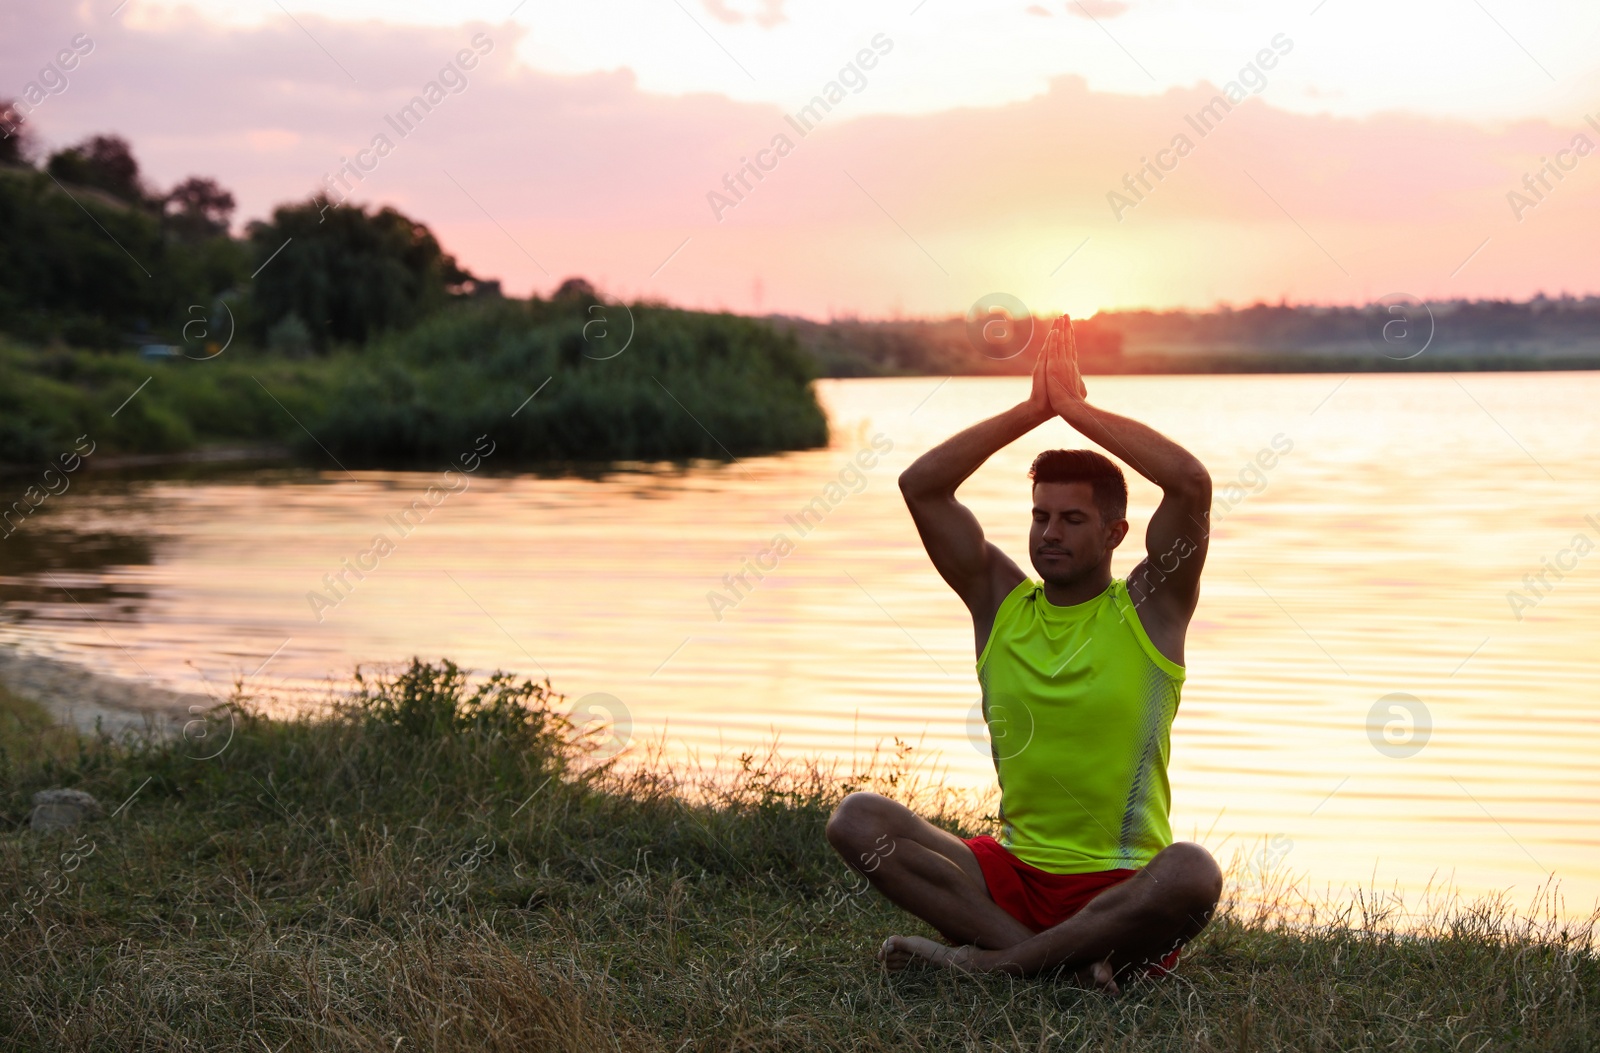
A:
[[[450,464],[482,434],[512,462],[726,459],[827,442],[792,334],[730,314],[605,310],[603,323],[542,301],[440,312],[368,349],[307,427],[347,462]]]

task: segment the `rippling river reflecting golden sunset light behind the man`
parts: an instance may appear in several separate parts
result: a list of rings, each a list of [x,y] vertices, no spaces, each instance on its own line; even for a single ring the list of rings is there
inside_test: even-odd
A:
[[[1026,381],[818,389],[827,450],[595,478],[502,474],[488,453],[410,523],[440,470],[78,474],[0,541],[0,645],[187,691],[243,675],[280,706],[357,663],[448,656],[549,677],[621,717],[635,749],[776,739],[850,757],[899,736],[952,786],[990,786],[971,624],[894,477]],[[1216,482],[1174,834],[1317,888],[1414,903],[1432,880],[1525,907],[1554,875],[1565,914],[1594,909],[1600,374],[1126,376],[1090,392]],[[1046,424],[958,494],[1024,570],[1027,466],[1070,445],[1085,443]],[[1158,493],[1131,470],[1130,488],[1117,575]],[[792,547],[773,549],[779,533]]]

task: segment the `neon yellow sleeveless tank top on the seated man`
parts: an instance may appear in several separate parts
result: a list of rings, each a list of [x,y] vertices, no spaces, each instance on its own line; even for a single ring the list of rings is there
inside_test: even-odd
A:
[[[1166,760],[1182,682],[1126,579],[1072,607],[1019,583],[978,656],[1000,843],[1053,874],[1142,867],[1173,843]]]

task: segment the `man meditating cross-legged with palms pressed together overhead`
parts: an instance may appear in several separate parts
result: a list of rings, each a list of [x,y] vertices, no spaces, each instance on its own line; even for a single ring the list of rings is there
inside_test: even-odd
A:
[[[1222,891],[1211,855],[1173,842],[1168,730],[1200,597],[1211,477],[1154,429],[1086,402],[1072,323],[1051,325],[1032,394],[917,458],[901,477],[923,547],[973,615],[978,682],[1000,781],[1000,839],[960,839],[878,794],[850,794],[827,840],[896,906],[954,946],[890,936],[878,960],[1032,975],[1066,970],[1115,994],[1163,975]],[[1162,488],[1126,579],[1128,485],[1091,450],[1046,450],[1034,480],[1030,579],[955,488],[1045,421],[1067,424]]]

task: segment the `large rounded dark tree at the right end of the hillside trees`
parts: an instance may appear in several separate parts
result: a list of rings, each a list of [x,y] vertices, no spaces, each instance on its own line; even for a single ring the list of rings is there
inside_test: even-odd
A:
[[[410,326],[474,280],[432,230],[387,206],[368,213],[318,195],[250,224],[250,240],[258,328],[298,315],[318,349]]]

